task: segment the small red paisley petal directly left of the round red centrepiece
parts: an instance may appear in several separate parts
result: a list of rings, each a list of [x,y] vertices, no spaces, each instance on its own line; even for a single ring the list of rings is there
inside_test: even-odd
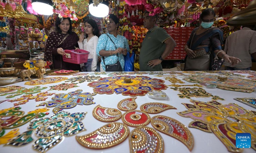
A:
[[[93,117],[103,122],[113,122],[122,117],[121,111],[115,108],[106,108],[100,105],[96,106],[92,111]]]

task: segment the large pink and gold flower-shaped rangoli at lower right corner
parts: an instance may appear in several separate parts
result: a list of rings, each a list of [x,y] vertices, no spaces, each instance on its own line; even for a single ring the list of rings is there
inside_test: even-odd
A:
[[[180,116],[193,119],[189,127],[214,133],[230,152],[241,152],[236,148],[236,133],[251,133],[252,148],[256,150],[256,114],[234,103],[223,105],[217,101],[207,103],[190,100],[182,103],[188,110],[178,112]]]

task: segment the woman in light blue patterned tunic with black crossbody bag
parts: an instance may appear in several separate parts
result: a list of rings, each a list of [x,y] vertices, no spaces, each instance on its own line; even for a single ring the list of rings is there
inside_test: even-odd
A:
[[[129,51],[127,39],[117,33],[119,19],[114,14],[109,14],[107,21],[108,33],[102,34],[99,38],[96,53],[102,56],[100,63],[100,71],[106,71],[106,65],[118,64],[120,62],[122,70],[124,71],[124,56]],[[127,55],[128,56],[128,55]]]

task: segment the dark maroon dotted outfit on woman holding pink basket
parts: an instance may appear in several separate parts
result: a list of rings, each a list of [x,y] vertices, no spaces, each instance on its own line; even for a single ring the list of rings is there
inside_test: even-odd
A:
[[[57,53],[58,48],[73,50],[78,47],[79,40],[76,33],[63,34],[52,32],[48,36],[44,51],[44,61],[52,61],[51,69],[80,70],[79,64],[63,62],[62,56]]]

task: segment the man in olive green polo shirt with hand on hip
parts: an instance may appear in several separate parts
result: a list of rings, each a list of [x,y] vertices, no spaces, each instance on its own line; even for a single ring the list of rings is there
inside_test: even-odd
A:
[[[176,46],[176,42],[163,29],[156,26],[157,16],[144,12],[144,27],[148,29],[140,49],[140,71],[163,71],[161,62]]]

